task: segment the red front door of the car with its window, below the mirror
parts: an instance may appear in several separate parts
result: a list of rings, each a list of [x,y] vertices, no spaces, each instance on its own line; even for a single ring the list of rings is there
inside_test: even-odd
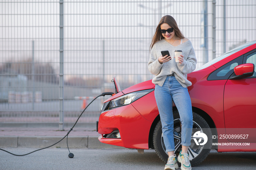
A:
[[[256,66],[256,51],[245,54],[243,63],[253,63]],[[245,142],[256,142],[255,70],[251,77],[227,80],[224,89],[223,107],[226,134],[246,135]],[[228,139],[230,142],[237,142],[234,138]]]

